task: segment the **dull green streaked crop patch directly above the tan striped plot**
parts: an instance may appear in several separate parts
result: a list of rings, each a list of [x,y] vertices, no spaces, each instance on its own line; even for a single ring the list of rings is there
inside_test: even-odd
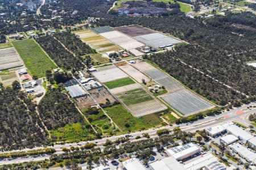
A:
[[[117,94],[119,99],[126,105],[138,104],[144,101],[152,100],[152,97],[147,94],[142,88],[136,88],[134,90],[125,91]]]

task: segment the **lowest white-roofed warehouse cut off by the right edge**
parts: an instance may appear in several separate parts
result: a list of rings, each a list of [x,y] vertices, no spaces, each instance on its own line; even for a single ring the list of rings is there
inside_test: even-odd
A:
[[[246,147],[240,145],[239,143],[234,143],[233,145],[230,145],[230,148],[247,162],[256,164],[256,154],[248,150]]]

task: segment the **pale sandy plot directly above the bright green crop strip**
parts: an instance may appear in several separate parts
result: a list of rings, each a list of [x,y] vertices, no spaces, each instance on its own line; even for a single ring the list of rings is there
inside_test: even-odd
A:
[[[115,66],[100,67],[98,71],[92,73],[100,82],[110,82],[113,80],[127,78],[128,75]]]

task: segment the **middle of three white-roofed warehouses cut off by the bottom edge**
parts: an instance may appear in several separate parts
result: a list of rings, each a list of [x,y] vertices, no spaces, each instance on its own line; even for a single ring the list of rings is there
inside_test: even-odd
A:
[[[149,167],[151,170],[185,170],[183,165],[177,162],[177,160],[172,156],[151,163],[149,164]]]

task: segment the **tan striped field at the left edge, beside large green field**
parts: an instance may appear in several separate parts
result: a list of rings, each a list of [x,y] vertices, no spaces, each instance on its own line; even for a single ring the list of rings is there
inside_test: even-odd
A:
[[[0,49],[0,70],[19,66],[23,66],[23,62],[13,47]]]

